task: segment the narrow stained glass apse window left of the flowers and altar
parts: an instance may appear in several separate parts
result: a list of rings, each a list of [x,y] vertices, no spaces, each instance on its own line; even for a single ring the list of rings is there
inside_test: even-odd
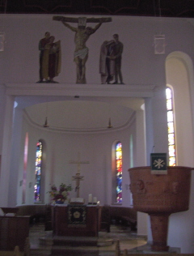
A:
[[[40,201],[40,181],[41,181],[41,165],[42,165],[42,143],[36,143],[36,163],[35,163],[35,178],[36,183],[34,186],[34,201]]]

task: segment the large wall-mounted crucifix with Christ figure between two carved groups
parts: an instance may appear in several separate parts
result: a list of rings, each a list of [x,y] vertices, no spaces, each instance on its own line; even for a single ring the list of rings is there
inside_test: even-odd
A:
[[[111,18],[68,18],[62,16],[53,16],[53,20],[61,21],[65,27],[75,32],[74,42],[74,62],[76,63],[77,80],[76,83],[86,83],[86,60],[89,49],[86,47],[86,41],[96,32],[104,22],[112,21]],[[78,23],[78,28],[70,26],[69,23]],[[86,23],[98,23],[95,28],[86,27]]]

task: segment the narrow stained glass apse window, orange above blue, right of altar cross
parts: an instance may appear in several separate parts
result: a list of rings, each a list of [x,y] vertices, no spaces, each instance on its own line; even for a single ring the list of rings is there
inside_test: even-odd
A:
[[[116,203],[122,203],[122,144],[116,143]]]

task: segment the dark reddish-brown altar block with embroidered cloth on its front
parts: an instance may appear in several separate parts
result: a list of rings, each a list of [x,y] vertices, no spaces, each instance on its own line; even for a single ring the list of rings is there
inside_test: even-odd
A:
[[[98,205],[55,205],[53,234],[70,237],[98,237],[101,207]]]

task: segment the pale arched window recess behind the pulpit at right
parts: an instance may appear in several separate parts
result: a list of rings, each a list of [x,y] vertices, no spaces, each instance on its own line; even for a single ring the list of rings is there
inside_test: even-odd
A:
[[[166,61],[167,86],[174,94],[177,165],[192,166],[192,61],[186,53],[173,52]],[[181,100],[180,100],[181,99]],[[190,156],[189,156],[190,155]],[[188,163],[188,164],[187,164]]]

